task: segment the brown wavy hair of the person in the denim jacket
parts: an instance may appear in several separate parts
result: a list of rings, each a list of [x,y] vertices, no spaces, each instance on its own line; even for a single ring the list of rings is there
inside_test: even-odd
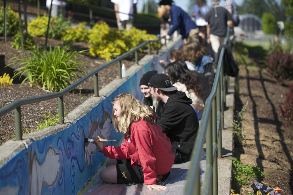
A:
[[[184,61],[196,62],[206,55],[207,51],[205,47],[202,47],[198,42],[191,42],[183,45],[183,54],[181,59]]]

